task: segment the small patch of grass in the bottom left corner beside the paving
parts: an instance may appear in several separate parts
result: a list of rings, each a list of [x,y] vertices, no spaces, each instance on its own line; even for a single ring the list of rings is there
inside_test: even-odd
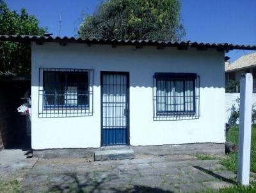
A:
[[[20,192],[20,182],[18,180],[0,180],[0,192],[7,193],[19,193]]]

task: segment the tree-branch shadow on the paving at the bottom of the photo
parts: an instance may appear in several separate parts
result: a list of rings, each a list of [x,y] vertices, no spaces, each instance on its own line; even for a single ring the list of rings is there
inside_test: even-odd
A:
[[[49,183],[49,192],[172,192],[150,185],[131,185],[131,179],[119,178],[116,174],[65,173],[58,181]]]

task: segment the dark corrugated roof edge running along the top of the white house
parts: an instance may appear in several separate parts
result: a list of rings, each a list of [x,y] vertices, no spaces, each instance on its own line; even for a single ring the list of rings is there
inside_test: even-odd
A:
[[[112,45],[156,45],[156,46],[170,46],[170,47],[197,47],[198,49],[216,48],[220,50],[256,50],[256,45],[237,45],[232,43],[203,43],[191,41],[156,41],[156,40],[115,40],[115,39],[82,39],[82,38],[68,38],[67,36],[61,38],[59,36],[29,36],[29,35],[0,35],[0,41],[13,42],[75,42],[75,43],[95,43],[95,44],[112,44]]]

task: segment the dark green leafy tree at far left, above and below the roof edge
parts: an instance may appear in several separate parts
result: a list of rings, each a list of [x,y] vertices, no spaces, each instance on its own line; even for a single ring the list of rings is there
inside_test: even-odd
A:
[[[22,8],[10,11],[0,0],[0,35],[44,35],[38,20]],[[0,42],[0,71],[29,74],[31,72],[31,43]]]

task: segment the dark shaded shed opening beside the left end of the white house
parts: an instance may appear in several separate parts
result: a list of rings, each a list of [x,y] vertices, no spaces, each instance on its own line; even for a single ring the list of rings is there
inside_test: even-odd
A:
[[[24,102],[21,98],[30,87],[30,76],[0,72],[0,150],[31,148],[31,136],[26,132],[26,116],[17,112],[17,107]]]

